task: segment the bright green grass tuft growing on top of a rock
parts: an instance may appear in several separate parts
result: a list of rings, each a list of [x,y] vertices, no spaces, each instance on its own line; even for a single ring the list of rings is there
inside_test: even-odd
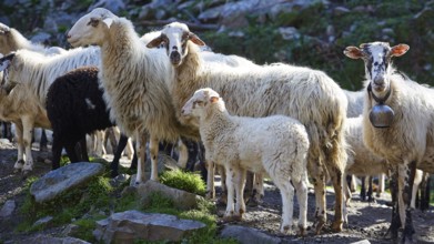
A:
[[[205,183],[196,173],[183,172],[181,170],[165,171],[160,176],[161,183],[191,192],[198,195],[204,195],[206,192]]]

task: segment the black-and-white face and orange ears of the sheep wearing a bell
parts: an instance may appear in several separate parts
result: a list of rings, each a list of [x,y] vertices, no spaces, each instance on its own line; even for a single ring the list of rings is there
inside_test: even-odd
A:
[[[386,79],[390,73],[392,57],[400,57],[407,52],[407,44],[390,47],[387,42],[363,43],[360,48],[347,47],[344,54],[351,59],[362,59],[365,62],[366,79],[371,82],[372,89],[379,93],[388,91],[390,81]]]

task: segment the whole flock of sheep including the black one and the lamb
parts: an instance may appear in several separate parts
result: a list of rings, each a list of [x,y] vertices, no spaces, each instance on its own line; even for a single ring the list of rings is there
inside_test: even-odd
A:
[[[55,169],[63,148],[71,162],[87,159],[85,152],[77,155],[75,144],[87,133],[118,125],[137,142],[135,182],[147,180],[147,143],[151,180],[158,181],[159,142],[182,136],[203,142],[208,196],[214,196],[214,164],[224,169],[225,220],[241,220],[245,212],[249,171],[261,194],[264,175],[281,191],[282,233],[292,226],[295,189],[301,235],[307,176],[320,234],[329,179],[335,192],[332,228],[340,232],[351,197],[346,175],[384,173],[394,200],[391,234],[397,238],[403,228],[402,241],[412,242],[413,184],[422,171],[434,173],[434,91],[393,68],[391,59],[407,45],[346,48],[366,70],[365,89],[347,92],[319,70],[203,51],[205,43],[183,23],[140,38],[130,20],[101,8],[80,18],[68,41],[75,48],[46,48],[0,26],[0,119],[17,126],[17,170],[32,170],[33,128],[53,130]]]

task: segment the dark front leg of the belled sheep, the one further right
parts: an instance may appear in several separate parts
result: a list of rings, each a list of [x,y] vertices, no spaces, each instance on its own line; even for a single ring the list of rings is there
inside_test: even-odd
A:
[[[398,165],[398,205],[401,225],[404,228],[403,243],[413,243],[415,233],[412,221],[411,196],[413,191],[414,177],[416,174],[416,161],[411,163],[404,161]]]

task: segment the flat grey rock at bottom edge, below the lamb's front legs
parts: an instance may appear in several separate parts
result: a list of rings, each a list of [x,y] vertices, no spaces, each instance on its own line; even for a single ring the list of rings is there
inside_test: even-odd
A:
[[[258,228],[245,227],[240,225],[226,225],[223,227],[221,237],[235,238],[241,244],[262,244],[262,243],[281,243],[279,237],[270,236]]]

